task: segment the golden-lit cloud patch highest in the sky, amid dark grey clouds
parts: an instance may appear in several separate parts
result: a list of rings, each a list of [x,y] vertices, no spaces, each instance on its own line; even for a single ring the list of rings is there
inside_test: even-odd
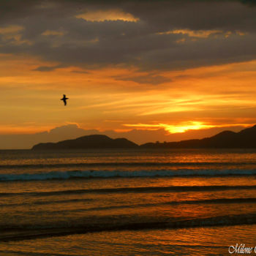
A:
[[[124,20],[130,22],[137,22],[139,19],[133,15],[122,10],[102,10],[102,11],[89,11],[75,16],[89,21],[105,21],[105,20]]]

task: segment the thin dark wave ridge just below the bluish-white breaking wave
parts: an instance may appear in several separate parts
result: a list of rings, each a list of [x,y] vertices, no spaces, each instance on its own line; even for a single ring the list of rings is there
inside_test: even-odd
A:
[[[256,189],[254,186],[170,186],[170,187],[120,187],[105,189],[72,189],[43,192],[0,192],[0,197],[13,195],[51,196],[51,195],[78,195],[86,193],[147,193],[147,192],[196,192],[196,191],[222,191],[237,189]]]

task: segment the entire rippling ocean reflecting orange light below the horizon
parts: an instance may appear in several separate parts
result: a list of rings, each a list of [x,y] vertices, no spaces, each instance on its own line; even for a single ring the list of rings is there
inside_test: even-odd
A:
[[[255,149],[1,150],[0,161],[0,255],[256,254]]]

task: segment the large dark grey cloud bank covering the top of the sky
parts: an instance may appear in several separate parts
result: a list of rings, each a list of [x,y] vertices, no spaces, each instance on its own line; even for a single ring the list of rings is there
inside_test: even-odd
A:
[[[256,58],[256,8],[252,4],[255,1],[1,1],[0,28],[22,26],[23,30],[17,32],[17,39],[0,29],[0,53],[25,53],[86,69],[116,65],[186,69],[249,61]],[[138,21],[75,17],[113,9]],[[168,34],[173,30],[184,31]],[[151,78],[151,83],[162,83],[161,79]]]

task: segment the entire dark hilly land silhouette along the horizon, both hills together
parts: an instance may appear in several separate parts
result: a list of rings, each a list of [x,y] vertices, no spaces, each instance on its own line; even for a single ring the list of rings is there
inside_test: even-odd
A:
[[[75,140],[63,140],[58,143],[39,143],[38,149],[72,148],[256,148],[256,125],[240,132],[224,131],[210,138],[181,140],[178,142],[145,143],[138,146],[126,138],[111,139],[106,135],[89,135]]]

